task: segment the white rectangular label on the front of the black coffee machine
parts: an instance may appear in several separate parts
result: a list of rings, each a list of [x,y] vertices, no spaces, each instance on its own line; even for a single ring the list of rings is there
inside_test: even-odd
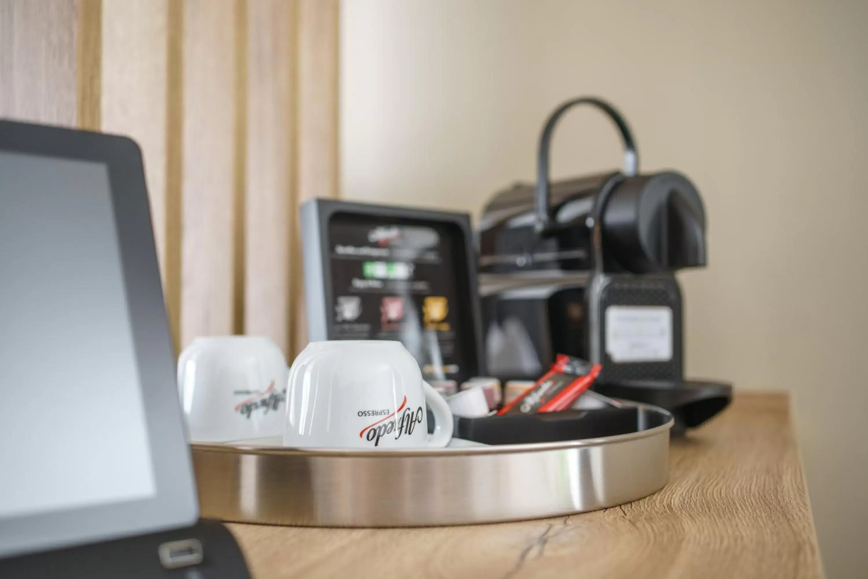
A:
[[[672,359],[672,308],[608,306],[606,353],[613,362]]]

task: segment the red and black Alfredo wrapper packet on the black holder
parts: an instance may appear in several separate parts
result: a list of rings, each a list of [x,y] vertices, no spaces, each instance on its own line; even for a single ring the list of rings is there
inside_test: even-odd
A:
[[[535,414],[567,410],[576,398],[594,384],[601,370],[600,364],[558,354],[549,372],[497,414]]]

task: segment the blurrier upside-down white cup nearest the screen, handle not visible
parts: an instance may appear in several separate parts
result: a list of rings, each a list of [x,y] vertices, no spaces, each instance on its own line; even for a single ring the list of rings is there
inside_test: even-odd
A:
[[[190,441],[280,436],[288,374],[283,352],[270,339],[194,339],[178,359],[178,390]]]

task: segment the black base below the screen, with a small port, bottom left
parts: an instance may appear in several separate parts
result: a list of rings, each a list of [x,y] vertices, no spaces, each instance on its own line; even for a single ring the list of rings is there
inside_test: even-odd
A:
[[[160,545],[199,539],[202,563],[164,569]],[[232,533],[203,519],[193,527],[133,536],[43,553],[0,559],[0,577],[14,579],[248,579],[250,573]]]

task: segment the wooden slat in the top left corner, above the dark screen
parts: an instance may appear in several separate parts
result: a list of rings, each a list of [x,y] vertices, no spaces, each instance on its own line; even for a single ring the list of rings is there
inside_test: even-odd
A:
[[[70,0],[0,0],[0,115],[76,126],[80,9]]]

